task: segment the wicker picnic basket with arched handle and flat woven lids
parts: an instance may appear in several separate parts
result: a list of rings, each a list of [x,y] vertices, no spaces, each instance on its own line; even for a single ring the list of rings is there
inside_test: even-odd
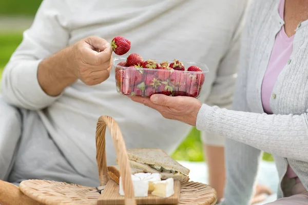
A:
[[[115,152],[119,159],[120,174],[124,180],[125,197],[123,202],[125,205],[136,205],[125,142],[117,122],[109,116],[101,116],[97,123],[96,146],[100,187],[104,188],[109,180],[105,153],[106,127],[110,131]],[[98,188],[65,182],[32,179],[22,181],[18,193],[14,189],[17,190],[14,185],[0,181],[0,204],[100,204],[99,198],[101,194]],[[216,201],[216,191],[208,185],[193,181],[181,184],[178,204],[214,205]]]

